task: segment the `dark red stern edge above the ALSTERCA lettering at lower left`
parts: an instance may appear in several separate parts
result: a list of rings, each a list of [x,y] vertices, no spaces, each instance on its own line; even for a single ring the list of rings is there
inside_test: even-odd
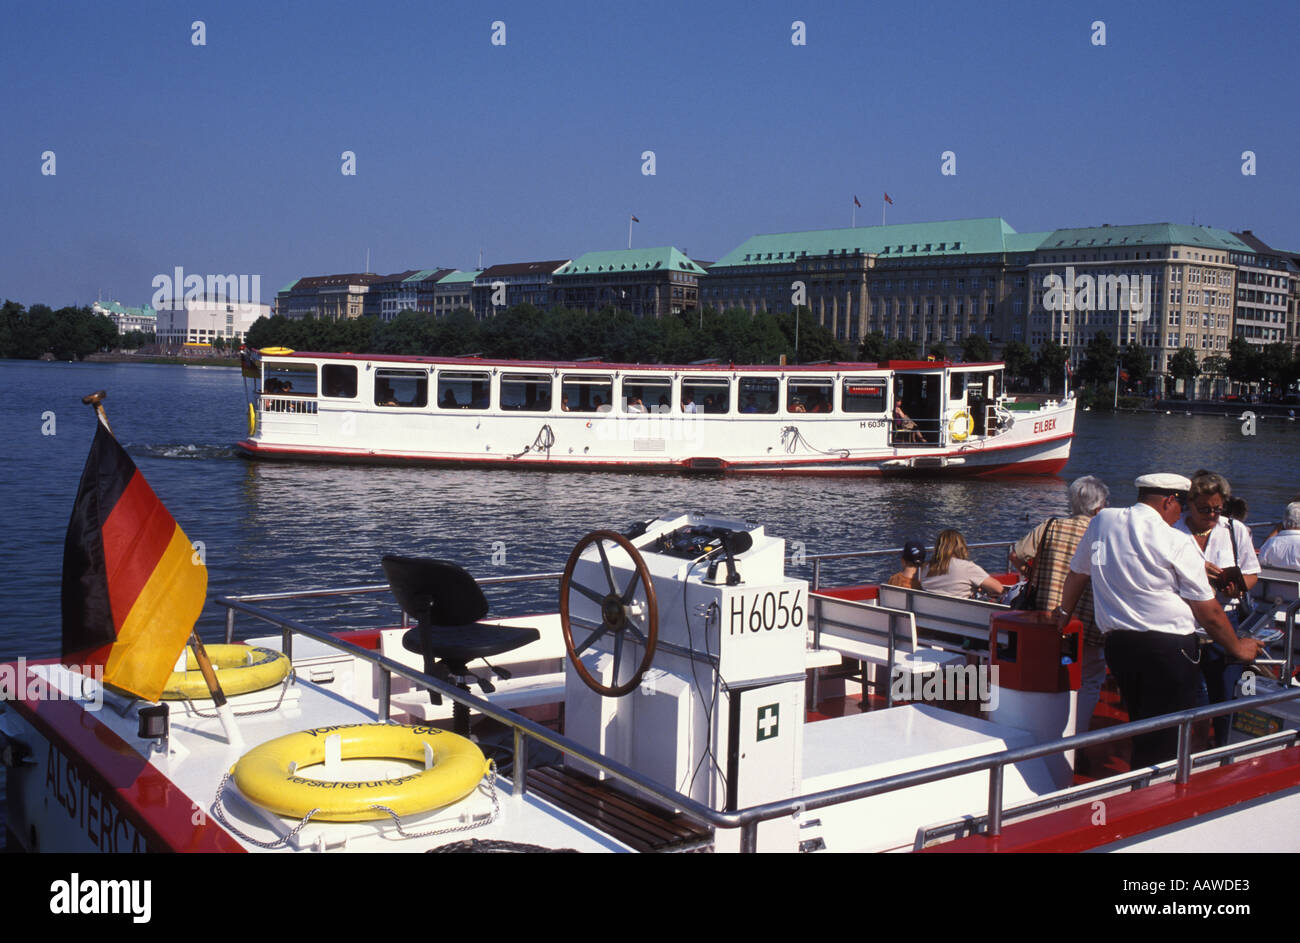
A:
[[[150,851],[244,851],[212,821],[209,809],[196,809],[194,800],[176,783],[77,702],[23,700],[14,701],[14,706],[77,766],[78,773],[112,800],[144,838]]]

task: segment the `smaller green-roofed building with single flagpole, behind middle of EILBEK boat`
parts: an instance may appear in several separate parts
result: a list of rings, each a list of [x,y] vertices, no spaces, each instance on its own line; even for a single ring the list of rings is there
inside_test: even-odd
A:
[[[582,311],[616,308],[637,317],[699,308],[705,269],[673,246],[588,252],[552,277],[555,303]]]

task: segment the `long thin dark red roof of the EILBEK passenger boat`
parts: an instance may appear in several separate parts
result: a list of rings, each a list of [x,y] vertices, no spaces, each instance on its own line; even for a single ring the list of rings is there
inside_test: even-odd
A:
[[[260,351],[259,351],[260,354]],[[446,364],[446,365],[480,365],[480,367],[520,367],[520,368],[533,368],[533,369],[671,369],[671,371],[690,371],[702,373],[716,373],[718,371],[734,372],[745,371],[746,373],[754,372],[772,372],[772,373],[826,373],[826,372],[846,372],[846,371],[866,371],[866,369],[883,369],[893,372],[904,371],[927,371],[927,369],[944,369],[944,368],[959,368],[959,369],[974,369],[974,368],[997,368],[1001,369],[1002,363],[997,360],[978,362],[978,363],[953,363],[952,360],[881,360],[879,363],[863,362],[863,360],[828,360],[822,363],[806,363],[806,364],[740,364],[740,363],[620,363],[614,360],[504,360],[497,358],[482,358],[482,356],[422,356],[413,354],[329,354],[320,351],[306,351],[295,350],[291,354],[261,354],[264,358],[273,359],[303,359],[303,360],[382,360],[391,363],[428,363],[428,364]]]

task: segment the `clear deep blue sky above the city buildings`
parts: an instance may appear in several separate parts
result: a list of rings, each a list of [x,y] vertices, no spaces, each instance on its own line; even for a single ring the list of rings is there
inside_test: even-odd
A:
[[[878,224],[883,191],[890,222],[1195,219],[1300,250],[1294,3],[9,0],[0,22],[0,297],[25,304],[140,304],[177,265],[270,300],[368,248],[376,272],[575,258],[621,248],[629,213],[633,245],[716,259],[846,226],[854,194]]]

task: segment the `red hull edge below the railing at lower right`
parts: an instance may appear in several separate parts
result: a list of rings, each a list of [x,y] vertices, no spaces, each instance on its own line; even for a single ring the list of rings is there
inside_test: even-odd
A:
[[[1084,852],[1143,832],[1230,809],[1300,786],[1300,747],[1197,773],[1187,786],[1161,783],[1106,797],[1105,823],[1091,803],[1002,829],[926,848],[935,853]]]

